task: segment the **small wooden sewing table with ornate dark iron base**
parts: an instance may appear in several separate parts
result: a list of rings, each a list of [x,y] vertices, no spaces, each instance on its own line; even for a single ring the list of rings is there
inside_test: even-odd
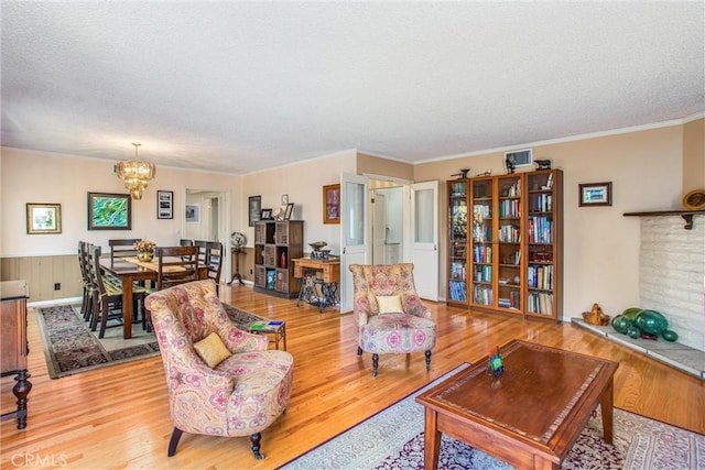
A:
[[[312,260],[295,258],[294,277],[303,278],[296,306],[301,300],[318,306],[318,311],[338,303],[338,282],[340,281],[340,260]],[[321,292],[316,291],[319,286]]]

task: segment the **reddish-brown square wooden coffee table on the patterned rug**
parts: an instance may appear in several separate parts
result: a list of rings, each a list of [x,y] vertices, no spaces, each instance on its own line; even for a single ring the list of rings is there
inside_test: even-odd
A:
[[[484,360],[416,397],[426,470],[438,466],[442,433],[521,469],[557,469],[597,405],[611,444],[617,362],[520,340],[500,351],[500,378]]]

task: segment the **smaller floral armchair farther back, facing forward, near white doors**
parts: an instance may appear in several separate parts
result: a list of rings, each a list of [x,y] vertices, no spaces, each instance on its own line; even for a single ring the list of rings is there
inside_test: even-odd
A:
[[[357,354],[372,353],[377,376],[379,354],[424,351],[426,371],[436,343],[436,324],[416,294],[414,265],[351,264],[355,288],[352,315],[358,328]]]

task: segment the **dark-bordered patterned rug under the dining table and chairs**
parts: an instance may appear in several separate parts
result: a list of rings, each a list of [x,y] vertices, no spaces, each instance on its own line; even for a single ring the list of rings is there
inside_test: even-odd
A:
[[[240,329],[264,318],[223,304],[230,319]],[[132,325],[132,338],[122,339],[122,326],[108,328],[98,339],[79,315],[78,306],[58,305],[36,309],[48,375],[58,379],[108,365],[120,364],[159,354],[154,334]]]

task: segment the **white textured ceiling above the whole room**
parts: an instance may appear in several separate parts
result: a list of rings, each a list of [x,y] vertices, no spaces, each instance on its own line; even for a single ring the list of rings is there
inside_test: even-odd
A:
[[[2,145],[247,174],[705,111],[705,2],[2,0]]]

